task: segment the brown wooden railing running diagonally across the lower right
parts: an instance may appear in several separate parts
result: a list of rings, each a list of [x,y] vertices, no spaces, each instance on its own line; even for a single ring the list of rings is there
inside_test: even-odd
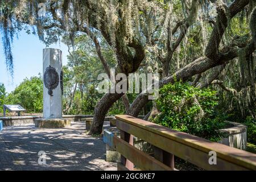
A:
[[[104,130],[104,142],[121,154],[118,170],[174,170],[174,156],[207,170],[256,170],[256,154],[129,115],[115,115],[115,118],[121,137]],[[152,144],[154,157],[135,148],[132,135]],[[216,154],[216,164],[209,163],[210,151]]]

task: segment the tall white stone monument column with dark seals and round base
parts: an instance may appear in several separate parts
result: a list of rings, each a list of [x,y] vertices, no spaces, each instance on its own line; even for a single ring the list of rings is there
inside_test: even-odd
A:
[[[62,118],[63,72],[60,49],[43,49],[43,87],[43,118],[36,119],[35,126],[70,126],[70,121]]]

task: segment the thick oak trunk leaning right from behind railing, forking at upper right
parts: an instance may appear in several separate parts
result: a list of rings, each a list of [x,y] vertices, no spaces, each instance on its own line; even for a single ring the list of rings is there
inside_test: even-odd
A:
[[[237,13],[242,11],[249,3],[250,6],[255,6],[255,2],[253,1],[234,1],[229,6],[226,6],[221,1],[217,1],[217,16],[216,20],[214,21],[212,33],[208,40],[208,45],[205,48],[204,56],[201,56],[192,61],[192,63],[185,65],[185,67],[179,69],[179,71],[175,72],[173,75],[163,78],[159,82],[160,86],[168,82],[174,82],[175,80],[187,80],[189,77],[195,75],[197,75],[196,82],[198,82],[201,73],[204,73],[208,69],[213,68],[214,71],[212,76],[206,79],[208,84],[211,84],[212,81],[214,81],[214,79],[218,77],[218,73],[220,74],[220,71],[218,71],[218,69],[222,69],[224,65],[229,63],[229,61],[233,60],[236,57],[239,57],[241,51],[245,52],[245,54],[243,55],[245,57],[252,56],[255,50],[255,8],[251,9],[252,13],[250,15],[251,35],[237,37],[234,40],[231,40],[226,46],[225,44],[221,45],[222,38],[224,36],[226,28],[229,25],[230,20]],[[255,81],[254,77],[251,79],[254,79]],[[205,83],[203,82],[202,84]],[[204,86],[207,86],[207,84],[205,84]],[[255,94],[255,82],[254,85],[251,86],[251,90],[251,93]],[[131,105],[129,111],[127,111],[127,114],[133,116],[138,115],[139,109],[146,102],[148,102],[147,94],[139,94],[137,99]]]

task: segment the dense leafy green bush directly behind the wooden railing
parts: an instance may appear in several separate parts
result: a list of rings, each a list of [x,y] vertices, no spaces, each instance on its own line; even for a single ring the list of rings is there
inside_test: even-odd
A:
[[[225,122],[214,113],[216,92],[175,82],[164,85],[156,105],[160,114],[154,122],[210,140],[220,140]]]

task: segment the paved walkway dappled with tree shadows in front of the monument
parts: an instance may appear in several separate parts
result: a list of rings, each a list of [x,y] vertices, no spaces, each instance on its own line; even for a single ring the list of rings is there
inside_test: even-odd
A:
[[[39,151],[46,152],[46,164],[38,164]],[[11,126],[0,133],[0,170],[116,170],[105,153],[102,138],[85,135],[84,122],[67,129]]]

